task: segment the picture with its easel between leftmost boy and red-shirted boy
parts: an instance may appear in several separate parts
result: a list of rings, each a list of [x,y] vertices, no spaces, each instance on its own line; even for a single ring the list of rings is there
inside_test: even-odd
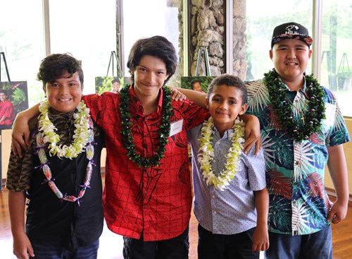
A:
[[[115,65],[114,61],[116,62],[116,73],[117,75],[114,76],[115,73]],[[112,68],[113,75],[108,76],[109,70]],[[106,76],[96,76],[95,78],[95,91],[97,94],[101,95],[103,92],[120,92],[120,89],[124,85],[130,85],[131,78],[125,77],[122,75],[122,70],[120,68],[120,62],[118,61],[118,56],[116,52],[111,52],[110,60],[108,63],[108,72]]]

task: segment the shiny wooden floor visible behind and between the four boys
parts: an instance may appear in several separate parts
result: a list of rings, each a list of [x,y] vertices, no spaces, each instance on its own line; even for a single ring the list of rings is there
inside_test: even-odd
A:
[[[352,258],[352,204],[348,206],[347,218],[344,222],[332,226],[334,259]],[[196,243],[198,239],[197,222],[191,216],[189,226],[189,259],[196,259]],[[122,259],[122,237],[109,231],[104,226],[100,239],[99,259]],[[15,258],[12,253],[12,236],[8,216],[8,191],[0,191],[0,258]],[[318,259],[318,258],[316,258]]]

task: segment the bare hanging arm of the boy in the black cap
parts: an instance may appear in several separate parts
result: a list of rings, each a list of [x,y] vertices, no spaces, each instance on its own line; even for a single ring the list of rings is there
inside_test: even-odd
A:
[[[327,150],[329,152],[327,167],[337,194],[337,200],[329,212],[327,221],[332,220],[332,223],[336,224],[344,220],[347,215],[349,196],[348,171],[344,147],[342,145],[335,145],[327,147]]]

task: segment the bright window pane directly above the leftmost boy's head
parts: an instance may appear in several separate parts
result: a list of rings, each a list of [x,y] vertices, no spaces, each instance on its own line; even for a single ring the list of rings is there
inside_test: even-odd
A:
[[[51,53],[70,52],[82,61],[84,94],[95,92],[95,77],[106,76],[116,50],[115,6],[115,0],[49,1]]]

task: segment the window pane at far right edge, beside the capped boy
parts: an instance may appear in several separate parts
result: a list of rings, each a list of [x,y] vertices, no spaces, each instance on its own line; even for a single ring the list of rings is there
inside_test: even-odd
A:
[[[344,116],[352,116],[352,1],[326,0],[322,6],[322,85],[337,96]]]

